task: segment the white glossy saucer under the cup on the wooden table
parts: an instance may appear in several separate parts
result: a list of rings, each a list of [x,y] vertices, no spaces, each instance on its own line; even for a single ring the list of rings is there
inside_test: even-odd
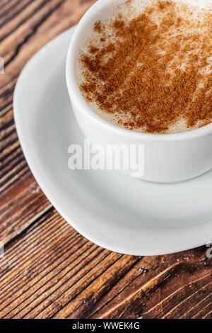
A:
[[[70,171],[68,147],[83,142],[66,91],[73,29],[40,50],[14,95],[18,137],[52,205],[84,237],[112,251],[157,255],[212,239],[212,171],[178,184],[153,184],[120,171]]]

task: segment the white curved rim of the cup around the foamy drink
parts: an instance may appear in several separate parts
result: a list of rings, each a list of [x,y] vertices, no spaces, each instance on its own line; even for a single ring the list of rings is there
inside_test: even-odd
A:
[[[119,0],[119,2],[123,2],[124,0]],[[110,6],[114,0],[107,0],[107,6]],[[117,5],[117,0],[115,1]],[[131,137],[131,139],[143,139],[143,140],[156,140],[156,141],[178,141],[178,140],[194,140],[197,138],[204,137],[206,135],[210,135],[212,132],[212,122],[208,125],[204,125],[201,128],[197,128],[195,130],[189,130],[187,132],[179,132],[179,133],[168,133],[168,134],[154,134],[154,133],[146,133],[146,132],[135,132],[133,130],[128,130],[126,128],[122,128],[118,125],[110,123],[104,118],[100,117],[98,113],[96,113],[86,102],[83,94],[81,93],[81,89],[78,86],[78,82],[76,80],[76,57],[74,55],[73,50],[76,48],[76,44],[78,43],[78,36],[83,33],[84,26],[89,23],[90,16],[95,13],[98,9],[101,9],[105,6],[105,0],[98,0],[90,6],[88,11],[83,15],[78,25],[76,26],[76,30],[73,33],[71,38],[71,42],[69,44],[69,50],[66,57],[66,84],[69,91],[69,96],[71,101],[74,101],[77,108],[83,108],[83,112],[89,118],[92,118],[99,125],[104,126],[108,130],[112,130],[113,132],[117,132],[120,135],[124,135],[125,137]],[[90,25],[93,24],[90,23]]]

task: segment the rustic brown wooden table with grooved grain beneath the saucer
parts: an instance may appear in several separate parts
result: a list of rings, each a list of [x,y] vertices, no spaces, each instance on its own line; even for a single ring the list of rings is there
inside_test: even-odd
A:
[[[88,242],[49,203],[21,151],[13,120],[18,75],[93,2],[0,0],[0,317],[212,318],[206,247],[138,257]]]

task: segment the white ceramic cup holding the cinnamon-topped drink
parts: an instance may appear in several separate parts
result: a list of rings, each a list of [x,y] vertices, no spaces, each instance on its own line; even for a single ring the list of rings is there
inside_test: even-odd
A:
[[[95,144],[144,145],[144,174],[141,179],[175,182],[199,176],[212,168],[212,123],[197,130],[156,135],[133,132],[107,122],[90,108],[81,94],[77,60],[81,44],[95,21],[111,13],[123,0],[99,0],[85,13],[71,39],[66,60],[66,82],[73,112],[83,135]]]

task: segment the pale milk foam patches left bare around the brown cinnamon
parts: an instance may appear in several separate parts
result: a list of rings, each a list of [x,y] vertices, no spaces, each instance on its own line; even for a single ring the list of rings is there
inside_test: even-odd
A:
[[[160,0],[159,0],[160,1]],[[161,1],[163,2],[163,1]],[[164,34],[163,40],[164,40],[164,45],[161,48],[161,50],[158,50],[158,53],[163,54],[163,50],[165,49],[165,45],[168,45],[170,41],[175,40],[175,36],[179,34],[183,34],[184,36],[189,36],[191,33],[201,33],[202,35],[208,35],[211,33],[208,31],[208,26],[206,26],[204,23],[207,20],[211,20],[212,18],[212,0],[172,0],[173,3],[176,4],[177,6],[177,11],[180,17],[184,21],[190,21],[196,24],[191,24],[187,25],[187,28],[185,30],[184,26],[179,26],[179,28],[170,28],[167,33]],[[138,17],[141,15],[141,13],[145,13],[146,8],[148,6],[153,6],[154,4],[158,3],[158,0],[129,0],[126,1],[126,3],[121,4],[120,6],[117,6],[117,9],[114,11],[114,9],[108,13],[108,15],[105,17],[100,17],[99,20],[104,24],[105,26],[105,33],[107,36],[112,36],[112,40],[116,38],[115,36],[112,35],[112,30],[110,27],[110,24],[117,18],[119,13],[122,15],[122,19],[124,21],[131,21],[133,18]],[[160,13],[155,13],[151,16],[151,21],[153,21],[155,24],[159,25],[161,23],[162,17],[160,16]],[[198,23],[198,24],[197,24]],[[81,50],[80,50],[80,57],[83,54],[86,54],[89,52],[89,47],[90,43],[92,41],[92,45],[95,45],[98,47],[101,45],[100,41],[100,35],[93,30],[92,33],[90,33],[89,37],[86,38],[84,41],[83,45],[81,45]],[[195,54],[198,54],[201,50],[199,49],[199,45],[196,45],[195,47]],[[79,57],[78,61],[78,83],[81,85],[84,80],[84,72],[85,68],[81,64]],[[110,57],[110,56],[108,56]],[[173,61],[173,60],[172,60]],[[180,59],[180,54],[175,54],[174,61],[178,64],[178,68],[184,69],[187,67],[187,62],[189,61],[188,57],[184,57],[184,59]],[[208,66],[204,67],[204,69],[201,69],[201,74],[211,74],[212,72],[212,55],[211,57],[208,57]],[[204,71],[204,72],[203,72]],[[172,69],[167,69],[167,72],[172,75]],[[166,74],[167,74],[166,72]],[[199,89],[204,86],[204,81],[199,82]],[[197,89],[198,91],[198,89]],[[129,120],[130,115],[120,115],[117,113],[107,113],[105,111],[102,111],[101,108],[98,106],[98,103],[95,103],[94,101],[88,101],[90,107],[98,113],[102,118],[107,120],[110,123],[113,123],[115,125],[119,125],[121,127],[124,127],[124,125],[120,125],[119,119],[124,117],[124,119]],[[211,119],[212,121],[212,119]],[[187,128],[187,123],[186,120],[181,119],[178,120],[177,123],[174,123],[170,126],[168,130],[166,130],[164,133],[176,133],[176,132],[185,132],[188,130],[194,130],[196,128],[201,127],[201,122],[199,121],[193,128]],[[143,128],[133,128],[134,131],[136,132],[145,132]]]

